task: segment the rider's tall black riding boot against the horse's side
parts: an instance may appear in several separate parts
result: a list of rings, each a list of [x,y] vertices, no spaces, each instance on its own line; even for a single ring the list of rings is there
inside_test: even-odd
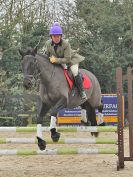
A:
[[[80,73],[77,76],[75,76],[75,83],[76,83],[76,87],[79,91],[79,94],[80,94],[81,98],[84,101],[87,100],[87,96],[86,96],[86,93],[85,93],[84,88],[83,88],[82,76],[81,76]]]

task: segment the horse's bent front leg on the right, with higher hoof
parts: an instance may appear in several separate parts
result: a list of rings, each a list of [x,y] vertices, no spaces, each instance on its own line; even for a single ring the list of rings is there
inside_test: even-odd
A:
[[[67,105],[67,99],[63,97],[56,103],[56,105],[51,110],[50,131],[51,131],[51,138],[54,142],[57,142],[60,138],[60,133],[56,131],[57,113],[59,112],[59,110],[65,108],[66,105]]]

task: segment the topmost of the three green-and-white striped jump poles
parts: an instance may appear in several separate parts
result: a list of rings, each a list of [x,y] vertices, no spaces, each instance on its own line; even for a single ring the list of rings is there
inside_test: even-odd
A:
[[[117,132],[117,126],[80,126],[57,127],[59,132]],[[0,132],[36,132],[36,127],[0,127]],[[50,131],[49,127],[42,127],[42,131]]]

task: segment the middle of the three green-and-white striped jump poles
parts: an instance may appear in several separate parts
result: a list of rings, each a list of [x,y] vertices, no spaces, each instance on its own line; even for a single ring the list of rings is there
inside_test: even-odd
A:
[[[60,138],[58,142],[45,138],[47,144],[117,144],[109,138]],[[0,138],[0,144],[37,144],[36,138]]]

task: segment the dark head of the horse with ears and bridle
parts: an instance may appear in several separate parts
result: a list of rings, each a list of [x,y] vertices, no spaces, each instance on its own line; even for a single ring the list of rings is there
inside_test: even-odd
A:
[[[32,80],[35,78],[37,72],[37,60],[35,58],[37,50],[19,50],[19,53],[22,56],[22,70],[24,74],[23,86],[26,89],[30,89],[32,87]]]

